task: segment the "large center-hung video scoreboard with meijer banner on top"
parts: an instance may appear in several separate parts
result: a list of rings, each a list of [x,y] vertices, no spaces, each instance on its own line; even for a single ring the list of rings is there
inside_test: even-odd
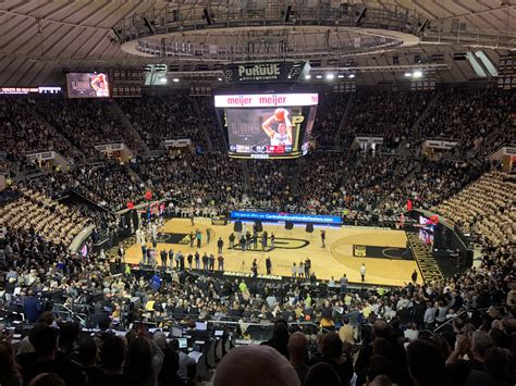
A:
[[[308,152],[317,94],[216,96],[234,158],[296,158]]]

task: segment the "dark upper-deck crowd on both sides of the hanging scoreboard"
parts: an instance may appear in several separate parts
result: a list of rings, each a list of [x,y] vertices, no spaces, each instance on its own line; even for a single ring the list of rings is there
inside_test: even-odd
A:
[[[425,138],[441,137],[459,141],[455,152],[469,151],[482,157],[513,140],[516,121],[511,109],[515,103],[514,92],[491,89],[359,90],[353,96],[325,92],[320,96],[312,139],[320,146],[348,146],[357,134],[374,134],[382,135],[384,146],[392,148],[402,142],[417,147]],[[116,103],[60,98],[2,99],[1,116],[7,129],[2,132],[1,150],[10,153],[11,159],[20,159],[26,150],[49,148],[72,155],[75,149],[66,142],[70,140],[86,157],[96,158],[99,153],[95,145],[123,140],[133,152],[139,152],[143,146],[121,121],[119,108],[152,149],[162,148],[164,139],[185,137],[204,149],[208,141],[214,149],[224,147],[212,99],[174,95],[126,98]]]

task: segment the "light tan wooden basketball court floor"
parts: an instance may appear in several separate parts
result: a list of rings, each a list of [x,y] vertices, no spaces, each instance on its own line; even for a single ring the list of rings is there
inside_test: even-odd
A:
[[[206,242],[206,229],[211,229],[210,242]],[[283,224],[266,224],[263,231],[269,236],[271,233],[275,236],[275,248],[269,251],[229,249],[228,237],[233,232],[233,224],[211,225],[208,219],[196,219],[192,226],[189,219],[173,219],[167,222],[160,233],[172,234],[174,239],[181,239],[182,235],[187,236],[191,232],[199,229],[202,233],[202,245],[198,249],[200,256],[206,251],[208,254],[217,254],[217,240],[222,237],[224,241],[223,257],[224,270],[234,272],[250,273],[253,260],[257,259],[258,273],[266,273],[266,259],[269,256],[272,261],[272,274],[282,276],[292,276],[292,264],[296,265],[305,261],[307,257],[311,260],[311,271],[319,279],[335,281],[345,273],[349,282],[360,282],[360,265],[366,264],[367,284],[396,285],[401,286],[410,281],[414,270],[418,272],[418,282],[421,281],[421,274],[414,260],[400,260],[385,258],[359,258],[354,257],[354,246],[377,246],[405,248],[406,235],[403,231],[393,231],[385,228],[370,227],[323,227],[316,226],[312,234],[305,232],[305,226],[295,226],[292,231],[286,231]],[[246,229],[253,232],[251,223],[246,225]],[[320,231],[325,231],[325,247],[322,248]],[[167,237],[167,236],[165,236]],[[184,241],[183,241],[184,242]],[[261,245],[258,245],[261,248]],[[188,244],[165,244],[158,242],[158,256],[162,249],[172,248],[174,252],[181,251],[185,257],[189,252],[197,250],[195,244],[191,248]],[[140,245],[134,244],[127,248],[125,260],[127,263],[138,263],[142,259]],[[158,257],[158,263],[161,261]],[[187,263],[185,262],[187,265]],[[194,263],[195,266],[195,263]],[[217,263],[216,263],[217,267]]]

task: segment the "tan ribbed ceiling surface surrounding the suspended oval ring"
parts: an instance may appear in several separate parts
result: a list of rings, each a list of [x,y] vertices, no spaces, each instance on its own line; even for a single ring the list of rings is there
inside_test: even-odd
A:
[[[349,1],[352,2],[352,1]],[[358,1],[360,2],[360,1]],[[142,63],[121,50],[113,39],[112,27],[132,15],[144,14],[151,9],[174,5],[175,1],[134,0],[38,0],[0,2],[0,87],[42,86],[62,83],[63,69],[95,70],[103,65],[135,65]],[[217,9],[229,3],[245,10],[248,7],[275,7],[292,4],[324,7],[329,1],[181,1],[177,7],[195,5]],[[341,4],[342,2],[337,2]],[[354,1],[357,3],[357,1]],[[365,7],[404,7],[428,18],[430,26],[457,24],[458,29],[478,30],[479,34],[502,34],[512,36],[516,47],[516,0],[365,0]],[[414,55],[442,53],[444,61],[453,61],[453,52],[464,51],[462,45],[419,45],[397,48],[395,54],[401,64],[413,62]],[[486,50],[488,57],[497,63],[496,47]],[[371,54],[357,59],[360,65],[388,64],[393,52]],[[138,62],[139,61],[139,62]],[[330,64],[330,63],[323,63]],[[179,69],[182,70],[182,69]],[[384,74],[371,75],[378,82]],[[449,75],[457,80],[475,77],[469,69],[454,65]]]

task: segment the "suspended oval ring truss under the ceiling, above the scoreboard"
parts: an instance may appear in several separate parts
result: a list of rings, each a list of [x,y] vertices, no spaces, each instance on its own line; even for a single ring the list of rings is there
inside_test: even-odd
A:
[[[332,26],[345,30],[355,27],[355,13],[361,11],[361,5],[343,7],[295,7],[293,10],[293,20],[284,22],[281,12],[286,8],[286,3],[278,2],[274,5],[268,4],[261,9],[250,10],[248,4],[245,8],[232,5],[219,5],[206,8],[197,4],[167,4],[164,7],[155,5],[144,13],[133,14],[130,17],[122,18],[116,25],[116,37],[121,43],[132,41],[131,50],[137,50],[151,55],[161,58],[175,55],[177,58],[186,57],[191,60],[214,60],[214,61],[237,61],[255,59],[270,59],[270,52],[249,49],[244,42],[235,42],[230,46],[220,46],[217,43],[208,45],[202,41],[169,40],[167,37],[171,33],[197,32],[209,28],[284,28],[292,26]],[[209,12],[212,23],[206,24],[205,12]],[[370,7],[368,5],[367,17],[361,22],[365,28],[379,28],[396,33],[416,35],[418,25],[422,16],[415,11],[403,7]],[[164,34],[164,35],[163,35]],[[162,35],[162,39],[159,36]],[[308,45],[305,41],[302,53],[299,50],[286,50],[278,47],[278,54],[284,58],[306,58],[306,54],[320,57],[321,54],[347,53],[356,54],[368,52],[370,50],[386,49],[403,43],[402,39],[395,34],[384,35],[381,38],[373,34],[363,37],[361,47],[355,47],[353,40],[344,41],[340,39],[339,47],[324,47],[322,45]],[[158,36],[158,38],[156,37]],[[249,37],[253,39],[253,36]],[[344,45],[343,45],[344,42]],[[308,47],[310,46],[310,47]],[[312,46],[312,47],[311,47]]]

